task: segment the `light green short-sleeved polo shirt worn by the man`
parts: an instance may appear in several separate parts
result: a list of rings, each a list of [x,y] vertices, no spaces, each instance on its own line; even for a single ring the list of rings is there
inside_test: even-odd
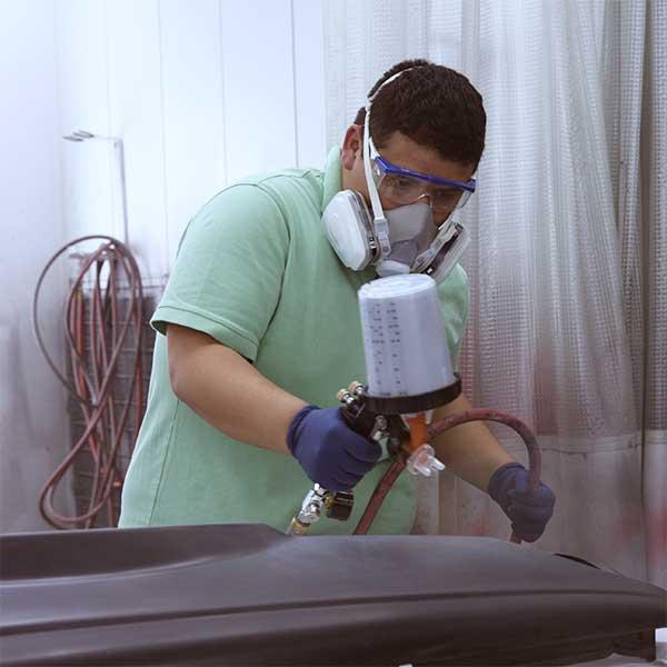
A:
[[[336,406],[336,392],[350,381],[365,382],[357,292],[377,276],[344,267],[323,233],[322,211],[340,189],[335,149],[323,172],[289,169],[246,179],[191,220],[151,321],[158,336],[148,407],[123,487],[121,527],[258,522],[287,529],[312,482],[291,456],[229,438],[177,398],[165,332],[169,323],[203,331],[320,407]],[[456,359],[468,303],[460,267],[439,293]],[[311,534],[350,534],[388,466],[380,460],[355,487],[350,520],[322,517]],[[415,504],[415,479],[405,471],[370,532],[410,532]]]

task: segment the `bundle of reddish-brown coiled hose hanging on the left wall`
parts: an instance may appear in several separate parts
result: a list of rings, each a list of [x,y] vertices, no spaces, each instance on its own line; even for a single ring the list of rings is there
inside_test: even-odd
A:
[[[46,348],[39,328],[38,300],[44,278],[56,260],[73,246],[94,240],[102,242],[97,250],[80,256],[80,266],[64,306],[63,325],[72,384],[63,377]],[[88,331],[84,290],[90,291]],[[127,246],[108,236],[86,236],[70,241],[51,257],[37,282],[32,300],[32,326],[37,344],[51,370],[80,406],[84,422],[83,432],[40,494],[40,512],[56,528],[92,528],[103,510],[109,524],[117,524],[115,505],[118,505],[123,482],[119,451],[128,427],[132,395],[135,424],[130,446],[137,439],[143,414],[142,300],[141,276],[135,257]],[[131,355],[129,386],[120,396],[115,390],[115,380],[118,379],[121,352],[125,355],[128,351]],[[86,451],[93,461],[88,508],[80,515],[63,516],[53,507],[53,494],[77,457]]]

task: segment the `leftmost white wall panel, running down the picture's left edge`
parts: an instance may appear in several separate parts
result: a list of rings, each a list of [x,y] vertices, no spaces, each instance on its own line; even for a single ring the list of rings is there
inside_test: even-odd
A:
[[[49,528],[39,495],[69,450],[66,392],[39,354],[30,308],[42,267],[66,240],[54,22],[51,0],[0,0],[0,532]],[[62,368],[64,285],[57,269],[39,313]],[[73,505],[66,487],[56,494],[58,511]]]

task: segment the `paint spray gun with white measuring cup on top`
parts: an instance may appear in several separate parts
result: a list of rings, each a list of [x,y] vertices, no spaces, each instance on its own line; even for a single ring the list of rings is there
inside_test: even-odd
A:
[[[434,408],[455,400],[461,385],[452,370],[432,278],[408,273],[374,280],[359,290],[359,308],[368,386],[355,381],[337,397],[348,426],[385,441],[394,461],[358,527],[365,531],[404,468],[427,477],[445,469],[428,444],[428,425]],[[305,535],[322,512],[345,521],[352,508],[351,490],[334,492],[316,484],[288,534]]]

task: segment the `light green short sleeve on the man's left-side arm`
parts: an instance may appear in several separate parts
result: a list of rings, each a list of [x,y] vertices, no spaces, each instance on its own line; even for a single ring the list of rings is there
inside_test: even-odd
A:
[[[152,327],[208,334],[255,360],[280,298],[289,248],[282,211],[257,185],[237,185],[191,220]]]

